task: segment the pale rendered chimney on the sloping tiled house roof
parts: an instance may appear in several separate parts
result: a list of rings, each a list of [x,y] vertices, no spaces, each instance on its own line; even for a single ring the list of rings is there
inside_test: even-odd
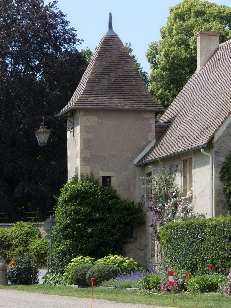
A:
[[[201,71],[202,67],[209,61],[214,51],[219,46],[218,31],[199,31],[197,37],[197,70],[196,73]]]

